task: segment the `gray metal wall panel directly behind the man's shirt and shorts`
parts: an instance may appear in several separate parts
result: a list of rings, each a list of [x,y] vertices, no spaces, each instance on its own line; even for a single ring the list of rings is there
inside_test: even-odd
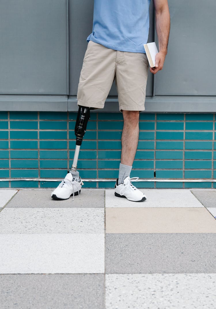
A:
[[[69,0],[69,94],[77,95],[80,71],[87,49],[87,36],[93,27],[94,0]],[[149,41],[154,41],[154,6],[150,4]],[[149,72],[146,95],[153,94],[153,74]],[[115,82],[109,95],[117,95]]]

